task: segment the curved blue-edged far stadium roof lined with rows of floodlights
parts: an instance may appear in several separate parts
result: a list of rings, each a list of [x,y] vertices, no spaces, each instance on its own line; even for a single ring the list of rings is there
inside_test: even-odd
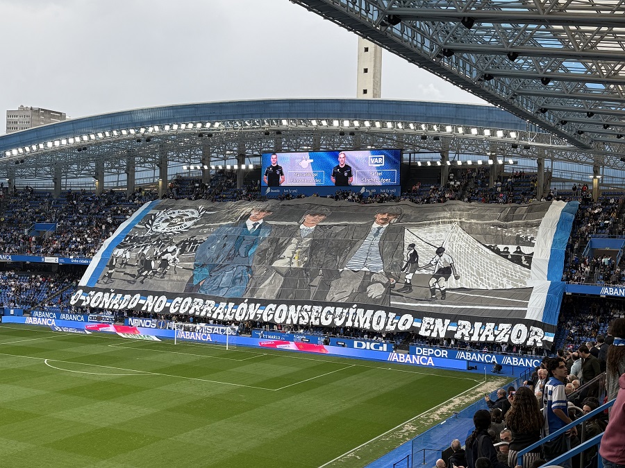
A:
[[[51,186],[60,175],[123,187],[128,157],[137,183],[158,180],[166,155],[170,173],[183,165],[236,163],[272,151],[402,148],[407,153],[528,158],[594,163],[580,150],[508,112],[486,105],[365,99],[276,99],[195,103],[72,119],[0,137],[0,179]],[[605,154],[610,162],[616,155]],[[610,159],[612,158],[612,159]]]

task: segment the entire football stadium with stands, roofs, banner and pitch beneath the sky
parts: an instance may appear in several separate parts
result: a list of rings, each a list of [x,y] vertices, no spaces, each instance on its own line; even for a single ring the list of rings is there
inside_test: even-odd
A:
[[[1,135],[5,464],[625,465],[622,2],[294,3],[490,105]]]

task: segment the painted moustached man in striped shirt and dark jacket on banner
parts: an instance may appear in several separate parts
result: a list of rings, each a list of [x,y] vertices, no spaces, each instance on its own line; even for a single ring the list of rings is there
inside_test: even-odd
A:
[[[373,223],[332,227],[330,239],[313,252],[322,279],[314,300],[390,305],[390,288],[399,278],[403,227],[392,225],[397,208],[381,209]]]

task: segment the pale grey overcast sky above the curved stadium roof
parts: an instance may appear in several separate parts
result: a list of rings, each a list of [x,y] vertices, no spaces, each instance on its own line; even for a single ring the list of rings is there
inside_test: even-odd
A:
[[[288,0],[0,0],[6,110],[356,97],[358,38]],[[485,104],[383,52],[382,98]]]

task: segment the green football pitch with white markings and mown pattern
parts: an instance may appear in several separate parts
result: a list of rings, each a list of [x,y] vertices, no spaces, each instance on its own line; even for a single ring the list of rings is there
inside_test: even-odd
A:
[[[29,468],[362,467],[472,402],[483,381],[4,324],[0,460]],[[354,456],[359,447],[366,454]]]

